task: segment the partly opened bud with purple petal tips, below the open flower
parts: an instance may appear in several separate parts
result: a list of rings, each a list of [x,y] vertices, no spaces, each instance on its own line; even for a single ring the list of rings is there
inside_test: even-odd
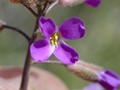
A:
[[[97,67],[97,69],[93,67],[91,68],[91,65],[89,67],[88,63],[83,63],[80,60],[75,64],[67,65],[66,67],[70,72],[85,80],[99,83],[106,90],[118,90],[118,88],[120,87],[120,76],[111,70],[101,69],[100,71],[100,69],[98,69],[99,67],[94,66]],[[94,85],[87,87],[84,90],[98,90],[95,89]]]

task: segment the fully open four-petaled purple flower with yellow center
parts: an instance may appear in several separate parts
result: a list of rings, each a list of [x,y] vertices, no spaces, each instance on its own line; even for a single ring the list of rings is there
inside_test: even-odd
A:
[[[64,64],[78,61],[78,53],[64,40],[75,40],[84,36],[85,27],[82,20],[73,17],[57,27],[52,19],[41,17],[39,25],[45,39],[35,41],[30,46],[30,53],[35,62],[47,60],[52,53]]]

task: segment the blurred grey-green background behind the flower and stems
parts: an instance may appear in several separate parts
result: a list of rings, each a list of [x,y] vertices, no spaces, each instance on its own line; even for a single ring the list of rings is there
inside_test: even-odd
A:
[[[84,38],[67,43],[74,47],[80,59],[111,69],[120,75],[120,1],[103,0],[98,8],[86,4],[74,7],[55,6],[46,17],[57,25],[66,19],[77,16],[84,21]],[[34,28],[35,18],[20,4],[0,0],[0,20],[17,27],[29,36]],[[23,66],[27,41],[18,33],[5,29],[0,33],[0,66]],[[51,56],[50,59],[56,59]],[[36,66],[36,65],[35,65]],[[39,64],[61,78],[70,90],[81,89],[89,82],[69,73],[60,65]]]

